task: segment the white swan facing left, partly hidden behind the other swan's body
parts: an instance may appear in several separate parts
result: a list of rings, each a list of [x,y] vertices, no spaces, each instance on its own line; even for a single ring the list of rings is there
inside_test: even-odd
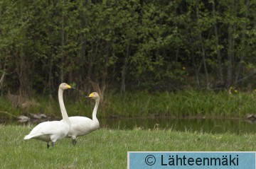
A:
[[[72,137],[73,145],[77,143],[76,138],[78,136],[84,136],[100,128],[100,123],[96,117],[97,108],[99,107],[99,103],[100,103],[100,96],[98,95],[98,93],[93,92],[93,93],[90,93],[90,95],[87,96],[87,98],[92,98],[95,100],[95,107],[92,112],[92,120],[88,117],[81,117],[81,116],[69,117],[71,122],[71,127],[67,137]]]

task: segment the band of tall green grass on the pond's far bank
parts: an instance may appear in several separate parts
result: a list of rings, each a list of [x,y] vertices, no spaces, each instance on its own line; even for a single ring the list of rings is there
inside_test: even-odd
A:
[[[13,107],[4,98],[0,98],[0,111],[7,111],[14,115],[23,112],[42,112],[46,115],[60,117],[58,100],[37,98],[38,105],[32,105],[26,110]],[[97,116],[138,117],[138,116],[221,116],[245,117],[255,113],[255,93],[235,93],[228,91],[213,93],[210,91],[178,91],[176,93],[147,93],[134,92],[120,95],[118,93],[105,93],[100,104]],[[78,98],[68,99],[65,96],[65,106],[68,115],[84,115],[91,117],[94,100]],[[0,113],[0,117],[3,113]]]

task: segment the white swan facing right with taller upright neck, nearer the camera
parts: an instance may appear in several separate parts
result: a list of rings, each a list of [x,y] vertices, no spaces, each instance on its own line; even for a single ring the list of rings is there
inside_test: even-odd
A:
[[[61,83],[58,90],[58,100],[60,103],[60,111],[63,120],[41,122],[35,128],[33,128],[32,131],[24,137],[24,139],[38,139],[41,141],[46,141],[47,148],[49,148],[50,141],[52,142],[51,146],[54,146],[55,141],[58,139],[63,139],[68,134],[71,123],[63,102],[63,91],[68,88],[72,87],[67,83]]]

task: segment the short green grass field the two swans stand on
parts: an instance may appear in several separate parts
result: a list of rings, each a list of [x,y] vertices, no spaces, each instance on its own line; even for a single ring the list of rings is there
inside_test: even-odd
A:
[[[127,151],[256,151],[255,134],[99,129],[46,143],[23,140],[33,126],[0,125],[0,168],[127,168]]]

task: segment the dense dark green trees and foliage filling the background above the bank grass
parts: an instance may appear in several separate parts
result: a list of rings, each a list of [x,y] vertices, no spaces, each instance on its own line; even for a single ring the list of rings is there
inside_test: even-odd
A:
[[[250,0],[0,1],[1,92],[51,95],[63,81],[121,93],[250,86],[255,7]]]

